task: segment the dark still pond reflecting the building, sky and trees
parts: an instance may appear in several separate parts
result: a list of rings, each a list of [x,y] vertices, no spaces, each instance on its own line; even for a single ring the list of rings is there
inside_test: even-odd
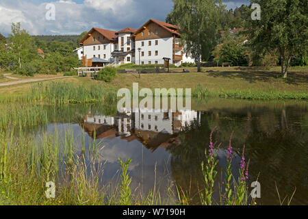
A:
[[[242,149],[250,159],[248,185],[261,184],[260,205],[279,205],[296,190],[292,205],[308,204],[308,105],[306,101],[242,101],[231,99],[192,100],[192,110],[163,112],[117,112],[114,105],[44,106],[50,123],[43,130],[60,133],[72,129],[75,141],[85,137],[89,145],[99,142],[99,163],[103,164],[101,183],[118,177],[118,157],[132,159],[129,175],[134,192],[164,190],[175,183],[200,204],[201,162],[209,146],[211,131],[218,149],[218,183],[227,164],[227,147],[236,154],[233,173],[238,174]],[[76,149],[80,153],[81,145]],[[89,159],[87,155],[86,159]],[[277,185],[277,187],[276,187]],[[218,188],[218,184],[216,185]],[[253,188],[251,188],[253,190]],[[218,194],[214,194],[216,199]],[[216,200],[217,201],[217,200]]]

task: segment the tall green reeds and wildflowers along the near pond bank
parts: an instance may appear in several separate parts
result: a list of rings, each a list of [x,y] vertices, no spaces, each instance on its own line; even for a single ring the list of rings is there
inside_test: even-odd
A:
[[[102,185],[99,177],[103,175],[103,165],[99,164],[99,156],[103,144],[94,140],[86,147],[85,137],[77,139],[69,129],[60,136],[60,130],[56,128],[52,134],[42,132],[40,138],[27,136],[18,126],[0,128],[0,205],[191,204],[191,197],[177,188],[175,182],[168,183],[164,196],[160,194],[157,182],[147,194],[131,191],[131,159],[118,159],[120,175]],[[220,191],[220,200],[212,198],[217,173],[216,150],[217,145],[211,137],[201,164],[205,183],[198,194],[193,195],[200,197],[201,205],[255,205],[255,201],[248,198],[248,165],[245,170],[242,166],[239,179],[231,180],[231,172],[227,172],[228,188]],[[55,198],[45,196],[49,181],[55,183]]]

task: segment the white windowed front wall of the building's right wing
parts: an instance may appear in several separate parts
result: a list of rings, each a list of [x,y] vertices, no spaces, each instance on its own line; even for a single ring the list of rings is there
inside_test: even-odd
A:
[[[155,45],[155,40],[158,40],[158,45]],[[144,42],[144,47],[141,46],[141,42]],[[170,64],[172,64],[172,55],[173,55],[173,38],[161,38],[151,40],[152,44],[149,46],[150,40],[138,40],[136,41],[136,64],[139,64],[139,51],[138,48],[141,48],[140,51],[140,64],[144,62],[144,64],[155,64],[155,61],[158,64],[164,64],[163,57],[169,57]],[[141,52],[144,51],[144,56],[141,56]],[[151,51],[151,56],[149,56],[149,51]],[[158,51],[158,55],[155,55],[155,51]]]

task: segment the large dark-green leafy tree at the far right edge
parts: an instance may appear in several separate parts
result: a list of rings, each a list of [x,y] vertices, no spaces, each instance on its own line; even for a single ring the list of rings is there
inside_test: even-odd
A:
[[[286,78],[292,57],[307,51],[307,1],[252,0],[261,6],[261,20],[249,22],[250,44],[262,55],[277,50]]]

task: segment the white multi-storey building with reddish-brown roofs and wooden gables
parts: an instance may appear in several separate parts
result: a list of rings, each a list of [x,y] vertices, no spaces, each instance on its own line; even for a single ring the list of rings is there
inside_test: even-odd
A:
[[[139,29],[127,27],[115,32],[93,27],[80,44],[83,60],[99,57],[115,64],[165,64],[165,58],[176,66],[194,63],[184,54],[180,39],[179,27],[150,19]]]

